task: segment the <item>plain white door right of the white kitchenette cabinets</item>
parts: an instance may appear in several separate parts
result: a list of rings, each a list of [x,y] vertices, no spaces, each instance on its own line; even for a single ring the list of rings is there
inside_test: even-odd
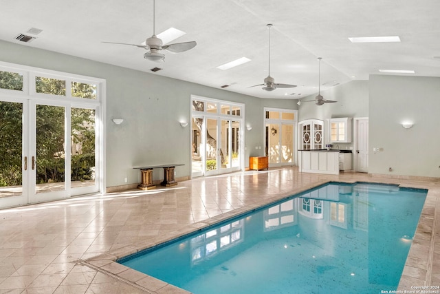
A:
[[[369,119],[355,118],[355,153],[353,162],[355,171],[367,173],[369,171]]]

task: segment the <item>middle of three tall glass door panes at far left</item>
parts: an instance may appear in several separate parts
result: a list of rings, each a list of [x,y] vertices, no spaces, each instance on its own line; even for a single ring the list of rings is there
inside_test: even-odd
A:
[[[35,193],[63,191],[65,187],[65,107],[36,105]]]

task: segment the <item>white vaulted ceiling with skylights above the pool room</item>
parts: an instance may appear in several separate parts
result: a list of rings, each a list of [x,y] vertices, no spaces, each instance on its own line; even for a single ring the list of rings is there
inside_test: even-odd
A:
[[[173,27],[197,41],[165,63],[143,58],[140,44],[153,34],[153,0],[1,0],[0,39],[80,56],[261,98],[301,98],[378,70],[415,70],[440,76],[439,0],[157,0],[155,32]],[[268,34],[272,23],[271,76],[296,88],[265,92]],[[16,41],[30,28],[43,30],[30,43]],[[400,36],[401,43],[351,43],[355,36]],[[1,48],[0,48],[1,50]],[[239,59],[230,70],[217,66]],[[163,70],[151,72],[151,68]]]

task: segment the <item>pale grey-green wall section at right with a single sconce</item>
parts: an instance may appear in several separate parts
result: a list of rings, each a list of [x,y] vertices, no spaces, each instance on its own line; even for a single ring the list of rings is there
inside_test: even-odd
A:
[[[372,75],[369,84],[369,172],[439,178],[440,78]]]

